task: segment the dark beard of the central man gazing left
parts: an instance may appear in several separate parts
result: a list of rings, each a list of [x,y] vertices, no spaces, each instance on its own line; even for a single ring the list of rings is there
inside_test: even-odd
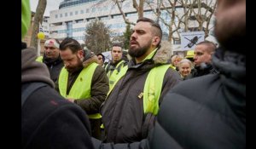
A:
[[[146,54],[148,49],[150,49],[151,43],[150,43],[150,41],[148,41],[148,43],[143,47],[141,47],[138,43],[137,43],[137,45],[138,45],[138,48],[130,47],[130,49],[128,50],[128,54],[130,54],[131,57],[137,58],[137,57],[143,56],[143,54]]]

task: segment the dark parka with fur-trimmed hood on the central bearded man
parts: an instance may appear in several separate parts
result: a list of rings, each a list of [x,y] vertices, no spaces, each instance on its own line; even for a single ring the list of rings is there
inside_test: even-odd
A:
[[[144,114],[143,100],[139,99],[138,95],[143,93],[148,72],[154,66],[163,64],[163,61],[166,63],[170,59],[168,53],[171,51],[171,46],[163,45],[163,43],[153,59],[145,60],[138,65],[135,65],[132,60],[129,61],[125,76],[116,83],[111,94],[102,104],[101,114],[107,134],[106,142],[139,141],[147,137],[145,134],[153,127],[154,116]],[[178,73],[172,68],[166,71],[160,101],[180,79]]]

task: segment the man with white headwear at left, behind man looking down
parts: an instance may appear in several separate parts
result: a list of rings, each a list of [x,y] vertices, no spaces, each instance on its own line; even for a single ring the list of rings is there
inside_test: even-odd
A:
[[[56,82],[61,68],[64,66],[60,56],[60,42],[57,39],[49,39],[44,43],[44,55],[37,61],[43,62],[49,70],[50,78]]]

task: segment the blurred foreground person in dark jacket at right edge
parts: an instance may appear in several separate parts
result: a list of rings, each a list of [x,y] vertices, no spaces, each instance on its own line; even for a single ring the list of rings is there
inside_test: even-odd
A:
[[[219,73],[195,77],[170,90],[150,149],[246,147],[246,0],[218,0],[212,55]],[[165,138],[165,139],[163,139]]]

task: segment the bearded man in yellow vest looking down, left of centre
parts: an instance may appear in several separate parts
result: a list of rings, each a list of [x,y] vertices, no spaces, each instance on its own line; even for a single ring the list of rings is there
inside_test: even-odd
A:
[[[65,38],[60,45],[61,69],[55,89],[67,100],[81,106],[89,115],[92,136],[101,138],[99,108],[108,93],[108,77],[97,57],[90,50],[82,50],[78,41]]]

